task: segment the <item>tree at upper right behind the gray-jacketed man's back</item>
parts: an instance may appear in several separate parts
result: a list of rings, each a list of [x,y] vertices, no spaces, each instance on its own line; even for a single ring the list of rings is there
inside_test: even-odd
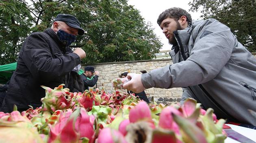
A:
[[[256,0],[193,0],[191,11],[202,18],[214,18],[230,27],[233,34],[250,52],[256,52]]]

